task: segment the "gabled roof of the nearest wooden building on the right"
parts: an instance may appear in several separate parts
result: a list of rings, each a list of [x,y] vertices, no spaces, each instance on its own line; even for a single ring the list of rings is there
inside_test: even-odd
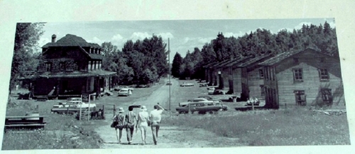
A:
[[[323,54],[323,55],[326,55],[327,57],[331,57],[328,54],[324,54],[322,52],[317,52],[315,49],[307,48],[305,50],[297,50],[297,51],[283,52],[283,53],[277,54],[275,57],[272,57],[271,59],[268,59],[266,61],[263,61],[263,62],[259,63],[259,65],[262,65],[262,66],[273,66],[274,64],[278,64],[281,61],[283,61],[283,60],[285,60],[285,59],[287,59],[289,57],[293,57],[295,54],[299,54],[299,53],[305,52],[305,51],[316,52],[317,54]],[[332,57],[332,58],[334,58],[334,57]]]

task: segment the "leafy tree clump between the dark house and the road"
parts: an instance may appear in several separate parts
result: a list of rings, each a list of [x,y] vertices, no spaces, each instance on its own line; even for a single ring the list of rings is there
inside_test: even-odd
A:
[[[168,52],[162,37],[128,40],[121,51],[111,42],[102,43],[102,68],[117,72],[120,85],[149,85],[168,73]]]

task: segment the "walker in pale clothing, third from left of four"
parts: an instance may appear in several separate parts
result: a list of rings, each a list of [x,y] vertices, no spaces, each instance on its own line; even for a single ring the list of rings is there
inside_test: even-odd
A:
[[[136,125],[136,130],[139,128],[141,130],[141,137],[143,145],[146,144],[147,129],[150,124],[149,114],[147,112],[146,106],[141,106],[141,112],[138,113],[138,121]],[[137,128],[138,127],[138,128]]]

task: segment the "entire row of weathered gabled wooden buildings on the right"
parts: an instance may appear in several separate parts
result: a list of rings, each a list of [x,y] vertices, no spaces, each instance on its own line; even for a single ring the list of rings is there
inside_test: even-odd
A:
[[[314,49],[226,59],[204,70],[210,85],[242,100],[265,99],[266,107],[345,103],[339,59]]]

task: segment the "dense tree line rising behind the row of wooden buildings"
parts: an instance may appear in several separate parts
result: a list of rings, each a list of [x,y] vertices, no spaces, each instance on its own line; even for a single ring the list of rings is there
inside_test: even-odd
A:
[[[292,32],[284,29],[277,33],[258,28],[241,37],[224,37],[219,32],[217,37],[207,42],[202,49],[195,47],[187,51],[184,58],[177,52],[171,68],[175,78],[204,78],[203,66],[214,61],[239,57],[258,57],[264,54],[280,54],[293,50],[312,48],[319,52],[339,58],[336,29],[329,23],[323,25],[302,25]]]

